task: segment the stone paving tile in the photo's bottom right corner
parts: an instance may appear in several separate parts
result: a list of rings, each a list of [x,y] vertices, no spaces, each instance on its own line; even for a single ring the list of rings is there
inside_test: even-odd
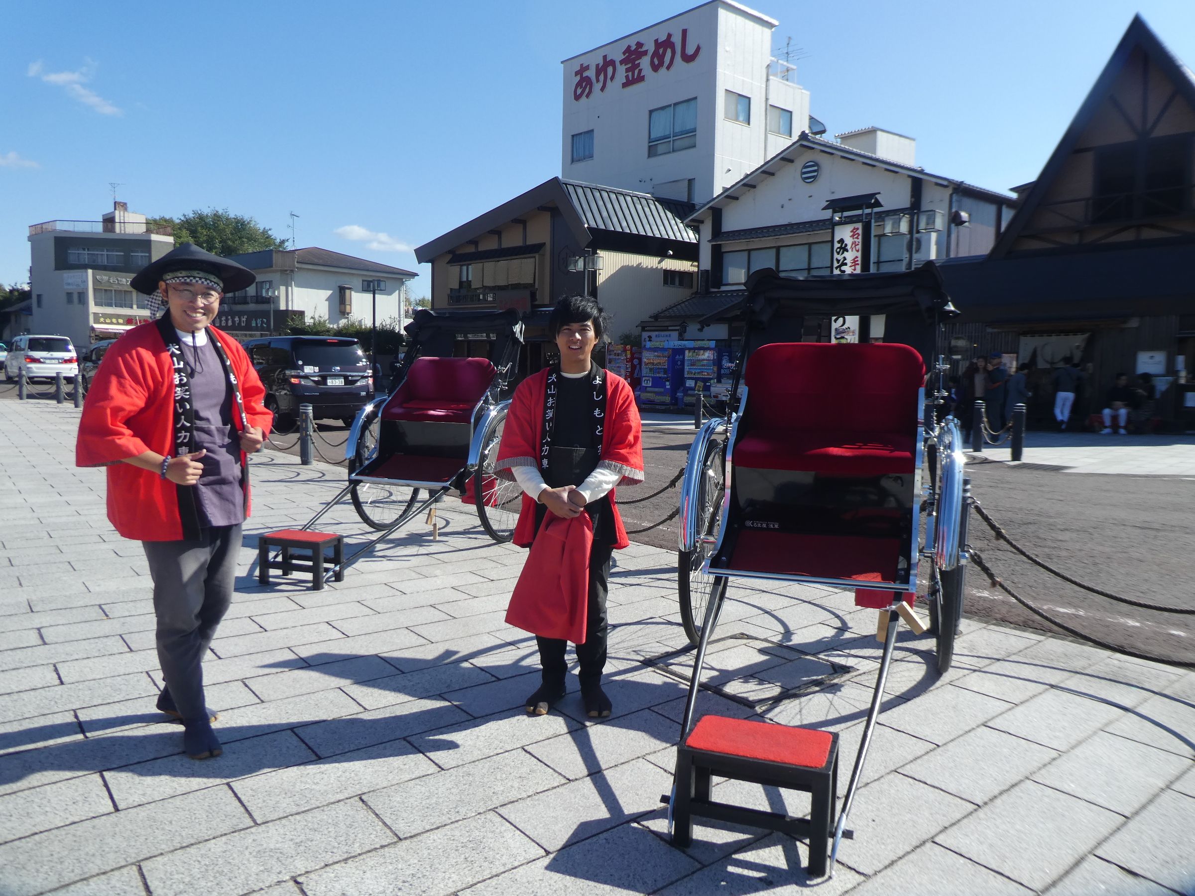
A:
[[[1195,797],[1165,791],[1095,852],[1178,892],[1195,889]]]

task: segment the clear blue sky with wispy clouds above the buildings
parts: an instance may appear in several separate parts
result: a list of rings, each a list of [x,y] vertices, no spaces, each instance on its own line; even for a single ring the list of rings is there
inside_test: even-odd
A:
[[[96,220],[118,182],[151,215],[289,237],[294,211],[300,246],[418,270],[425,295],[411,248],[559,173],[560,60],[694,5],[6,4],[0,281],[27,280],[29,225]],[[748,5],[803,49],[832,134],[908,134],[998,190],[1037,176],[1135,12],[1195,66],[1193,0]]]

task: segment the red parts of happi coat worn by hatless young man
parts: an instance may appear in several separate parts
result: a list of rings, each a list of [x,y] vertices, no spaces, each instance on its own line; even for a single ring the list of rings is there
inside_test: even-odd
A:
[[[507,412],[507,424],[498,446],[495,474],[514,479],[514,467],[538,467],[540,440],[544,432],[544,400],[547,391],[547,369],[528,376],[515,389]],[[635,405],[635,392],[626,380],[606,372],[606,425],[602,429],[600,464],[623,474],[619,485],[638,485],[643,481],[643,432],[639,409]],[[631,544],[618,513],[614,490],[609,492],[609,509],[614,522],[614,547]],[[526,493],[519,523],[515,526],[514,542],[529,547],[535,539],[535,502]]]

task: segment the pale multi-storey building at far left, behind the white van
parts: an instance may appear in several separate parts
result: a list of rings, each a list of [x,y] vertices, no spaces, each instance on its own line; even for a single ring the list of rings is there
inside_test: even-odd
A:
[[[99,221],[44,221],[29,228],[35,333],[75,348],[111,339],[149,319],[133,275],[174,247],[168,227],[152,227],[123,202]]]

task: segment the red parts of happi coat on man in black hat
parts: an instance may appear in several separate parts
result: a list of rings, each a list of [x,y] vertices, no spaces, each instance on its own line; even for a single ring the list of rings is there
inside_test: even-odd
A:
[[[262,404],[265,388],[235,339],[214,326],[208,336],[217,339],[240,387],[245,416],[252,426],[269,435],[274,415]],[[231,401],[235,399],[229,398]],[[233,426],[241,429],[233,407]],[[157,472],[123,464],[146,452],[174,453],[174,372],[157,321],[134,327],[112,345],[96,372],[79,421],[75,465],[108,467],[108,518],[127,539],[179,541],[184,538],[178,489]],[[246,456],[240,453],[241,470]],[[245,483],[245,516],[249,516],[249,477]]]

